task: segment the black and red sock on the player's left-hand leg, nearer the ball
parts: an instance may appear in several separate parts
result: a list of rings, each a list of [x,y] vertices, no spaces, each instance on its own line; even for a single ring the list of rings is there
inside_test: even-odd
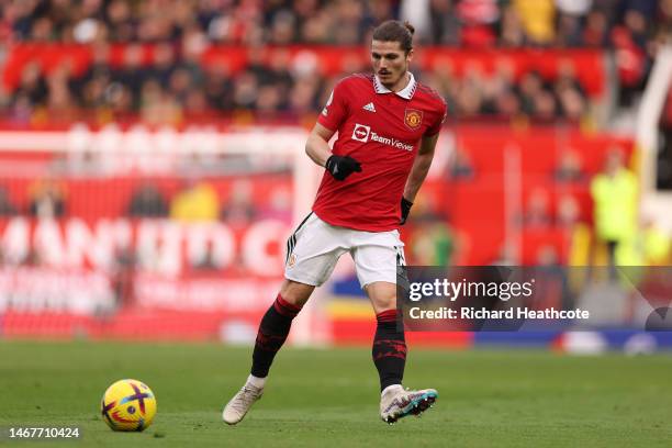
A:
[[[276,354],[289,335],[292,320],[301,309],[287,302],[280,294],[268,309],[257,333],[255,351],[253,352],[251,374],[266,378]]]

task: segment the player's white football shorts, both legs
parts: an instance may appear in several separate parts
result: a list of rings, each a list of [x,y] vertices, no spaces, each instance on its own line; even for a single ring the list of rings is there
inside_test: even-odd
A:
[[[355,260],[362,289],[374,281],[396,283],[396,267],[406,264],[399,231],[363,232],[337,227],[311,213],[287,242],[284,277],[320,287],[345,253],[350,253]]]

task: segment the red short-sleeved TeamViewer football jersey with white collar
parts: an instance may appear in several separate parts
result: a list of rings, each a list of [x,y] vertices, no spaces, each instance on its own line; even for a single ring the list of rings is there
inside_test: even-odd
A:
[[[437,134],[445,116],[441,97],[413,75],[399,92],[388,90],[373,75],[340,80],[317,122],[338,131],[333,153],[359,161],[361,172],[338,181],[325,171],[313,212],[332,225],[358,231],[397,228],[419,142]]]

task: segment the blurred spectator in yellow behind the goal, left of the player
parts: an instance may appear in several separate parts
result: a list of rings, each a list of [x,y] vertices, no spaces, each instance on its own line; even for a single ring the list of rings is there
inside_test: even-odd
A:
[[[215,221],[220,214],[217,192],[208,182],[188,179],[170,202],[170,219],[183,222]]]

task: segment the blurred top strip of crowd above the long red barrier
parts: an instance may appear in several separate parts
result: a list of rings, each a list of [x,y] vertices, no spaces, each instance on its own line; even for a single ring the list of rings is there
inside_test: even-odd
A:
[[[2,35],[40,42],[359,45],[387,19],[424,44],[609,46],[620,27],[640,47],[670,26],[670,0],[9,0]]]

